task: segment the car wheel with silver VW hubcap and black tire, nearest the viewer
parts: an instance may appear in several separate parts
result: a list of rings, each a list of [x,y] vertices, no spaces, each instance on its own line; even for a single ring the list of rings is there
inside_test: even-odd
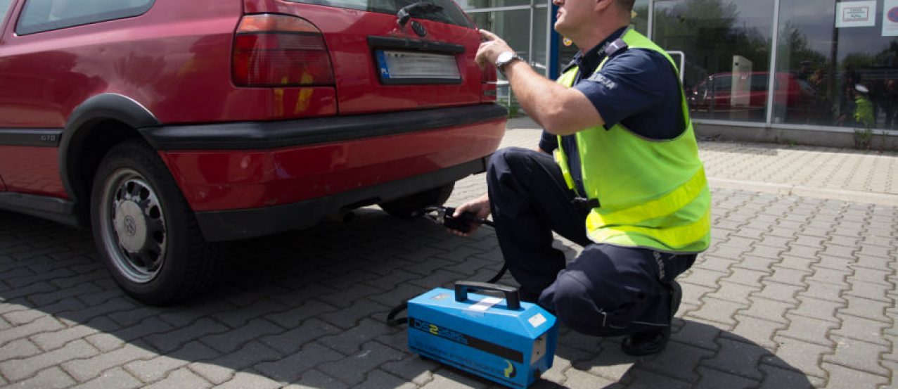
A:
[[[119,287],[150,305],[171,305],[209,287],[212,246],[155,150],[142,139],[114,146],[91,193],[93,239]]]

